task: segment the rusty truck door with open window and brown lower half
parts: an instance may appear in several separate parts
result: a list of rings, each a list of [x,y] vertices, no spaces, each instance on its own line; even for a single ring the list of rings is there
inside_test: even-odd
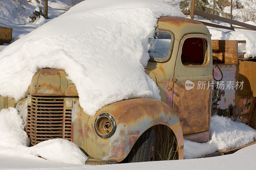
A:
[[[174,69],[172,109],[180,119],[184,138],[187,135],[189,140],[196,142],[207,141],[209,134],[212,97],[211,46],[211,39],[207,35],[184,35],[180,41]]]

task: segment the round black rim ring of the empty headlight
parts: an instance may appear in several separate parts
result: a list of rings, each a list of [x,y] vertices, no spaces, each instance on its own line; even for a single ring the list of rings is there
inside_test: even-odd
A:
[[[112,123],[112,129],[111,129],[111,131],[109,132],[108,135],[101,135],[101,134],[98,132],[98,130],[97,130],[97,122],[98,122],[98,120],[99,120],[101,117],[107,117],[107,118],[111,121],[111,123]],[[109,113],[106,113],[106,112],[100,113],[100,114],[96,117],[96,119],[95,119],[95,122],[94,122],[94,130],[95,130],[95,132],[97,133],[97,135],[100,136],[101,138],[103,138],[103,139],[110,138],[110,137],[111,137],[112,135],[114,135],[114,133],[116,132],[116,120],[115,120],[114,117],[113,117],[111,114],[109,114]]]

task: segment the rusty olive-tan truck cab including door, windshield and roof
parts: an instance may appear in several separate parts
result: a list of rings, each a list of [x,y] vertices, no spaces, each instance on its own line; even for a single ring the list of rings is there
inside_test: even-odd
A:
[[[184,139],[209,141],[212,87],[212,41],[207,27],[181,17],[162,17],[146,73],[156,81],[161,101],[178,116]],[[191,86],[188,88],[186,86]]]

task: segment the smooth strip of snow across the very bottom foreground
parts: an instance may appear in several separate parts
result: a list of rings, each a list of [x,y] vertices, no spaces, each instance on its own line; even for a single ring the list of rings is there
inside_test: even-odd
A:
[[[255,169],[256,144],[245,147],[233,154],[198,159],[139,162],[112,165],[74,165],[51,162],[42,158],[8,156],[0,153],[1,169]]]

